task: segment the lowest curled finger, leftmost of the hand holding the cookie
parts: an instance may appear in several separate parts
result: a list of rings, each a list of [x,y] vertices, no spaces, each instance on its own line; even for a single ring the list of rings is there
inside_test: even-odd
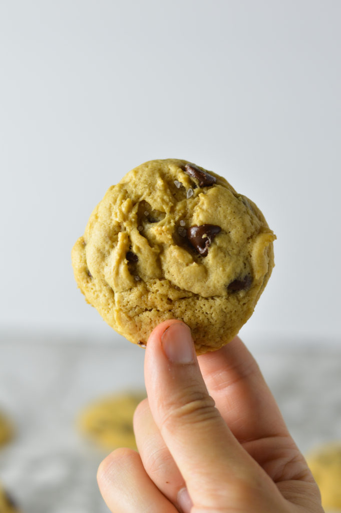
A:
[[[117,449],[99,465],[99,490],[112,513],[176,513],[173,504],[147,475],[132,449]]]

